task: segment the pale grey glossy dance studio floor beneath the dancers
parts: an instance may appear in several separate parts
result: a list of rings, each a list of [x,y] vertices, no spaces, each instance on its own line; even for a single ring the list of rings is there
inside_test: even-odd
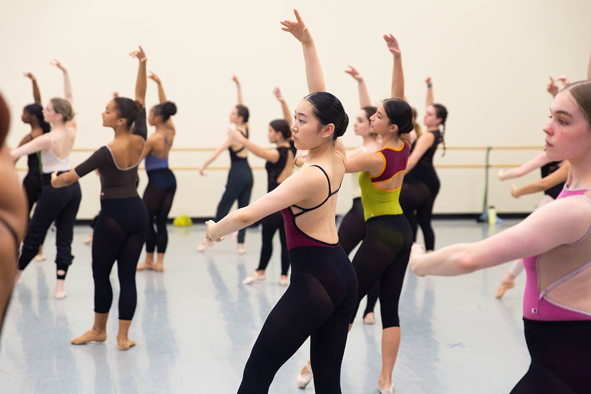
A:
[[[514,224],[515,221],[506,221]],[[486,237],[488,225],[472,220],[434,222],[437,246]],[[497,230],[499,230],[498,227]],[[70,344],[92,326],[93,283],[87,226],[74,229],[74,264],[67,297],[53,298],[55,233],[47,261],[31,262],[15,288],[0,347],[3,393],[235,393],[252,344],[285,288],[278,284],[278,239],[267,280],[241,281],[258,265],[260,231],[249,229],[246,255],[236,239],[196,252],[204,226],[170,227],[165,272],[138,272],[138,306],[129,337],[116,346],[114,301],[105,343]],[[143,258],[143,255],[142,255]],[[455,278],[418,278],[410,271],[400,302],[402,343],[394,368],[395,393],[508,393],[525,373],[529,356],[522,333],[525,275],[500,301],[496,286],[508,264]],[[381,368],[381,320],[364,325],[361,314],[349,334],[343,360],[343,393],[377,393]],[[312,393],[296,386],[309,342],[279,370],[270,393]]]

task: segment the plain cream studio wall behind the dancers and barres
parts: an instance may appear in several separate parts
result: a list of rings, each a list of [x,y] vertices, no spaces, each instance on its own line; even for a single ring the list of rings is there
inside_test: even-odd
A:
[[[381,38],[400,40],[406,94],[424,116],[423,79],[433,77],[437,102],[447,106],[448,146],[543,145],[549,75],[583,79],[591,48],[591,2],[572,1],[4,1],[0,16],[2,73],[0,89],[12,110],[9,146],[28,128],[20,122],[22,106],[32,102],[31,84],[22,71],[37,76],[44,103],[63,95],[54,57],[70,70],[79,125],[76,148],[98,148],[112,139],[100,113],[111,92],[133,96],[137,61],[127,56],[138,43],[148,55],[148,69],[159,74],[178,113],[175,146],[217,146],[229,126],[236,102],[230,74],[242,81],[251,110],[251,138],[268,145],[267,124],[281,117],[272,94],[280,86],[293,109],[307,94],[301,46],[281,31],[281,19],[293,19],[296,6],[316,39],[326,86],[342,100],[349,117],[359,109],[355,81],[343,70],[357,67],[374,101],[389,97],[392,60]],[[148,80],[147,105],[157,103]],[[356,146],[353,121],[345,144]],[[149,132],[153,132],[150,129]],[[493,163],[520,163],[535,151],[494,151]],[[72,154],[72,165],[90,153]],[[209,152],[173,152],[172,166],[199,166]],[[484,152],[437,152],[436,164],[483,164]],[[251,155],[249,162],[264,162]],[[228,154],[213,166],[228,165]],[[18,167],[26,165],[21,158]],[[491,170],[491,203],[499,211],[529,211],[540,195],[515,200],[511,181],[499,183]],[[478,212],[482,208],[484,170],[440,169],[436,213]],[[176,171],[177,195],[171,216],[212,216],[227,171]],[[24,175],[24,172],[21,173]],[[266,172],[255,170],[252,198],[267,188]],[[517,184],[539,177],[539,171]],[[337,211],[350,207],[350,177],[343,181]],[[140,172],[140,194],[147,183]],[[99,180],[80,181],[79,219],[99,210]]]

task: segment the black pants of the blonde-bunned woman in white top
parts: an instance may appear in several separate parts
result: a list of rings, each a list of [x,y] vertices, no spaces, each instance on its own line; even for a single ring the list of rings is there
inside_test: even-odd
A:
[[[82,199],[80,185],[73,184],[54,188],[50,184],[51,174],[43,174],[41,194],[37,200],[37,208],[27,226],[27,235],[22,242],[18,269],[25,269],[33,260],[39,246],[43,245],[47,230],[52,222],[56,222],[56,276],[65,279],[66,273],[74,256],[72,256],[72,239],[74,222]]]

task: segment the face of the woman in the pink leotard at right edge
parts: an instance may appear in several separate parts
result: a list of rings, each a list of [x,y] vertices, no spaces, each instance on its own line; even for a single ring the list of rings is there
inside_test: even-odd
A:
[[[546,154],[554,161],[591,153],[591,125],[569,90],[554,97],[550,121],[542,130],[546,133]]]

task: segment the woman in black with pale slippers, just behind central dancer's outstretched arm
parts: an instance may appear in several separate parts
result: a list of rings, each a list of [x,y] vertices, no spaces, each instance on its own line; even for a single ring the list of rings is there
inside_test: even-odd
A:
[[[277,145],[275,149],[265,149],[256,145],[249,139],[244,138],[242,133],[229,129],[228,135],[232,141],[239,142],[246,146],[255,156],[266,159],[267,164],[265,168],[268,174],[267,193],[275,190],[277,186],[284,181],[293,172],[293,161],[296,155],[296,147],[291,140],[291,115],[290,109],[281,95],[278,87],[274,89],[275,97],[281,103],[284,119],[275,119],[269,123],[268,139],[271,144]],[[266,278],[265,269],[271,259],[273,252],[273,236],[279,230],[279,239],[281,242],[281,276],[279,284],[287,286],[290,284],[287,278],[287,271],[290,268],[290,258],[287,252],[287,239],[285,239],[285,227],[283,224],[283,216],[281,212],[275,212],[261,220],[262,224],[262,246],[261,259],[259,261],[256,271],[242,281],[243,284],[248,285],[255,281],[262,281]]]

